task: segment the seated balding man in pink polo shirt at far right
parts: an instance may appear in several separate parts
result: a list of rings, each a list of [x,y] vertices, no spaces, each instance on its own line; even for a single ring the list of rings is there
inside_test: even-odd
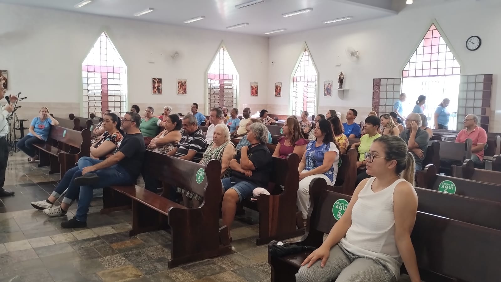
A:
[[[456,142],[464,143],[467,138],[471,139],[471,160],[481,163],[483,160],[483,148],[487,144],[487,133],[485,129],[477,126],[478,116],[468,114],[464,120],[464,129],[457,133]]]

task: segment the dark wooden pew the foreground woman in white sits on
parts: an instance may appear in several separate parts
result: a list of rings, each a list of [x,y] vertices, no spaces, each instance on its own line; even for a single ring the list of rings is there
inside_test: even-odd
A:
[[[319,178],[310,185],[310,195],[312,203],[305,236],[291,244],[320,247],[324,234],[329,233],[337,222],[333,216],[336,201],[343,199],[349,202],[351,197],[328,191],[325,180]],[[418,211],[411,240],[424,281],[490,282],[497,281],[501,275],[496,259],[501,247],[499,230]],[[270,242],[269,248],[274,243]],[[284,257],[269,254],[271,280],[295,281],[295,274],[310,253],[305,251]],[[483,257],[486,259],[480,259]]]

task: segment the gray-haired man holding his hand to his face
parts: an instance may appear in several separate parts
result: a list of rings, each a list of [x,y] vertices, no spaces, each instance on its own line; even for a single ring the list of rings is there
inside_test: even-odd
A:
[[[430,135],[420,128],[421,116],[417,113],[410,113],[407,116],[405,126],[406,129],[400,132],[400,138],[407,143],[407,149],[414,155],[416,171],[420,171],[423,167],[423,159],[426,156]]]

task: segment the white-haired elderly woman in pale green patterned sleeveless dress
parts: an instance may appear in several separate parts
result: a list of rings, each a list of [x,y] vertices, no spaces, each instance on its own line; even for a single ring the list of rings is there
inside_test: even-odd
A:
[[[229,162],[236,155],[235,146],[230,140],[229,130],[223,123],[214,126],[212,134],[212,142],[207,145],[205,153],[200,160],[200,165],[206,165],[212,160],[221,162],[221,178],[227,178],[230,175]],[[188,198],[193,200],[193,207],[198,207],[201,204],[202,196],[193,192],[179,188],[179,192],[183,196],[183,202],[188,207]]]

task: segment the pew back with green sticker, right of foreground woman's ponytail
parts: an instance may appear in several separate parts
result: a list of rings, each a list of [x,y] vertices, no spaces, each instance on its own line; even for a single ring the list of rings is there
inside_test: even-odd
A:
[[[436,174],[434,165],[417,172],[417,186],[476,199],[501,202],[501,185]]]

